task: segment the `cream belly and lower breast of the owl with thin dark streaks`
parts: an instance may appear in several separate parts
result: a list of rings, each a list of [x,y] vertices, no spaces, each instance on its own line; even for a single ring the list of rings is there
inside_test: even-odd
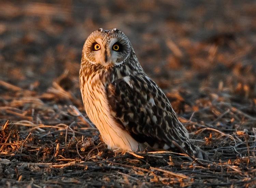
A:
[[[110,112],[109,102],[106,96],[105,85],[98,80],[84,80],[80,77],[80,88],[85,106],[86,114],[96,125],[103,141],[112,150],[139,151],[142,149],[140,143],[117,124]]]

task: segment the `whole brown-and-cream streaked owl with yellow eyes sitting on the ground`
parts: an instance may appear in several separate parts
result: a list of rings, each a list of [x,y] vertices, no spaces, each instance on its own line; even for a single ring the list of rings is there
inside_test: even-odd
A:
[[[86,114],[109,149],[182,152],[183,148],[206,158],[190,142],[165,93],[144,72],[123,32],[101,28],[87,38],[80,89]]]

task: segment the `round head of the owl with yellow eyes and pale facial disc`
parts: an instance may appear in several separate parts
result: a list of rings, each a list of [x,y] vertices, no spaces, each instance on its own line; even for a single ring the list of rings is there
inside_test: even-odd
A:
[[[91,33],[83,48],[83,58],[94,65],[114,67],[122,65],[131,53],[131,43],[117,29]]]

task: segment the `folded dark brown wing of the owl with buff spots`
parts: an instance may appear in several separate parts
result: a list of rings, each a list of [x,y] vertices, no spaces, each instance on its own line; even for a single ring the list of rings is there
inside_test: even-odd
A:
[[[165,94],[145,73],[109,84],[106,94],[114,120],[135,140],[156,150],[176,151],[174,140],[194,156],[196,149],[188,139],[187,130]]]

